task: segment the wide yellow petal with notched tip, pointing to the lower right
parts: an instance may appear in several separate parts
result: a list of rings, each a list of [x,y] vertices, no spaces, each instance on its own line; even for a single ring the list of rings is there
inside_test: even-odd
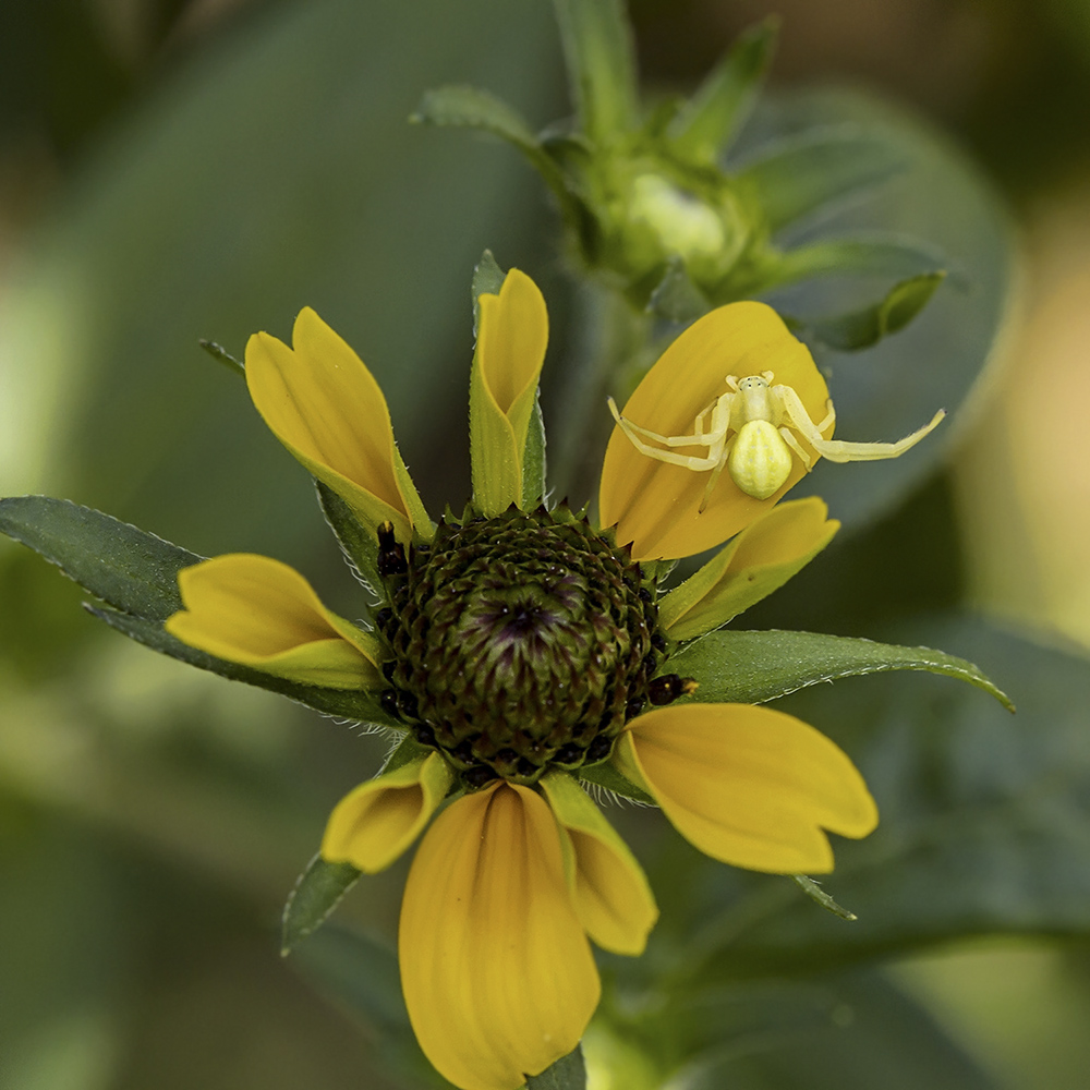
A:
[[[690,844],[775,874],[833,869],[823,829],[867,836],[877,809],[862,776],[824,735],[751,704],[688,704],[633,719],[615,760]]]

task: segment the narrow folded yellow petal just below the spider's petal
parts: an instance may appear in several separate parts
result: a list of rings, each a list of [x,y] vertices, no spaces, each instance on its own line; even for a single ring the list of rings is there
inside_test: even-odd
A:
[[[827,519],[816,496],[789,500],[751,522],[694,576],[667,594],[658,622],[675,640],[693,640],[737,617],[783,586],[832,540],[840,523]]]

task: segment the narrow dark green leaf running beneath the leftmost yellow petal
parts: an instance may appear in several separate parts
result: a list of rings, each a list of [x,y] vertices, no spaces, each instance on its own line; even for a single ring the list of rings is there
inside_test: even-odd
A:
[[[377,693],[300,685],[298,681],[278,678],[272,674],[265,674],[249,666],[239,666],[237,663],[229,663],[204,651],[197,651],[196,647],[191,647],[187,643],[182,643],[181,640],[172,637],[162,628],[160,621],[133,617],[130,614],[98,606],[88,605],[85,608],[99,620],[106,621],[110,628],[124,632],[131,640],[143,643],[145,647],[158,651],[162,655],[169,655],[171,658],[178,658],[191,666],[196,666],[198,669],[218,674],[231,681],[243,681],[246,685],[256,686],[258,689],[278,692],[282,697],[288,697],[299,704],[305,704],[307,707],[313,707],[316,712],[323,712],[326,715],[335,715],[356,723],[373,723],[376,726],[389,727],[391,730],[404,730],[403,724],[393,719],[383,710],[376,699]]]

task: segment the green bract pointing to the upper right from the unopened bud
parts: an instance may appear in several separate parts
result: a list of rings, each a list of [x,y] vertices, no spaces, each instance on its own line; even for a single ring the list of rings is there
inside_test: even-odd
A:
[[[700,162],[714,162],[744,124],[761,89],[779,36],[772,15],[744,31],[667,130],[670,149]]]

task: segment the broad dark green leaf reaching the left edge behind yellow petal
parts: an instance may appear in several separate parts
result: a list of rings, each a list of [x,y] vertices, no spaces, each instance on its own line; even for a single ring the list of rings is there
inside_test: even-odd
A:
[[[66,499],[0,499],[0,532],[28,545],[96,597],[164,621],[182,608],[178,572],[203,558]]]

